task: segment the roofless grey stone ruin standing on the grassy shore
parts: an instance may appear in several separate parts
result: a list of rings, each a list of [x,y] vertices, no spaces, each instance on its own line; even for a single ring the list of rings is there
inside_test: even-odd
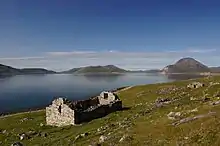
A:
[[[112,92],[102,92],[87,100],[57,98],[46,107],[46,123],[51,126],[80,124],[122,109],[122,101]]]

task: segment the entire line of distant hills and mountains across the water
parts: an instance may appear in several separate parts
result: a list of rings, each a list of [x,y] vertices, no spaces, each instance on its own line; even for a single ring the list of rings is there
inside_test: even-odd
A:
[[[182,58],[163,69],[152,70],[125,70],[115,65],[86,66],[73,68],[67,71],[56,72],[44,68],[13,68],[0,64],[0,76],[28,75],[28,74],[123,74],[123,73],[161,73],[161,74],[215,74],[220,73],[220,67],[208,67],[194,58]]]

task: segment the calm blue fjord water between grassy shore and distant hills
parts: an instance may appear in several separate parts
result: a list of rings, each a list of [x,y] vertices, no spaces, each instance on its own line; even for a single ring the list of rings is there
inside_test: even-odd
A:
[[[26,75],[0,78],[0,114],[44,107],[55,97],[85,99],[122,86],[169,82],[156,74]]]

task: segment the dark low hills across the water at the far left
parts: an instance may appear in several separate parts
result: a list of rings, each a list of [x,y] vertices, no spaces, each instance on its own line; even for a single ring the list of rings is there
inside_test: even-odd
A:
[[[26,74],[52,74],[52,73],[56,73],[56,72],[42,68],[17,69],[11,66],[0,64],[0,76],[26,75]]]

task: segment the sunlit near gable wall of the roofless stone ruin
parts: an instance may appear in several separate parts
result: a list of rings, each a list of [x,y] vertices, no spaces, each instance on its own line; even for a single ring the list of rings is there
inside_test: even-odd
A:
[[[61,99],[55,100],[46,107],[46,123],[52,126],[74,125],[74,110],[63,104]]]

